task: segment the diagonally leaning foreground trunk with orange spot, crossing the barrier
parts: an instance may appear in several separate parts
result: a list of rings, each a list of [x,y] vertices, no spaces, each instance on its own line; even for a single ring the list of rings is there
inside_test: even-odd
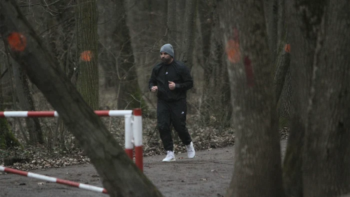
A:
[[[110,196],[161,196],[156,187],[128,158],[101,119],[47,52],[13,0],[0,1],[0,34],[14,44],[12,57],[26,71],[63,122],[79,141]],[[14,36],[13,32],[25,32]],[[11,33],[11,34],[10,34]],[[25,42],[24,42],[25,39]],[[13,42],[17,40],[17,42]]]

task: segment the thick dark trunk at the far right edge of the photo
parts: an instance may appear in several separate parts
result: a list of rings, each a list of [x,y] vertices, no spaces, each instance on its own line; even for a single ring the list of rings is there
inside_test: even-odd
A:
[[[350,6],[348,0],[295,2],[300,36],[314,51],[312,63],[303,65],[312,69],[305,100],[303,194],[345,194],[350,192]]]

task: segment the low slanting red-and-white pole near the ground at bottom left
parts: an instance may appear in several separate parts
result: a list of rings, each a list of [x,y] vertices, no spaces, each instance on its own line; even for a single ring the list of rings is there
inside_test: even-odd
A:
[[[37,174],[37,173],[22,171],[22,170],[13,169],[13,168],[8,168],[8,167],[4,167],[4,166],[1,166],[1,165],[0,165],[0,171],[4,171],[4,172],[8,172],[8,173],[14,173],[14,174],[27,176],[27,177],[31,177],[31,178],[36,178],[36,179],[41,179],[41,180],[45,180],[45,181],[49,181],[49,182],[56,182],[56,183],[59,183],[59,184],[65,184],[65,185],[78,187],[78,188],[81,188],[81,189],[86,189],[86,190],[95,191],[95,192],[99,192],[99,193],[107,193],[107,190],[105,188],[103,188],[103,187],[98,187],[98,186],[93,186],[93,185],[89,185],[89,184],[74,182],[74,181],[70,181],[70,180],[64,180],[64,179],[60,179],[60,178],[55,178],[55,177],[52,177],[52,176],[46,176],[46,175],[41,175],[41,174]]]

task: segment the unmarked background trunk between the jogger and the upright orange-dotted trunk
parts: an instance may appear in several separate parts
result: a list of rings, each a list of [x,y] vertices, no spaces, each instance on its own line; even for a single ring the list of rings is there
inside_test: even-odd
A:
[[[129,28],[126,25],[126,12],[124,0],[114,0],[118,22],[113,32],[113,38],[118,45],[116,58],[117,70],[117,108],[145,107],[142,93],[137,82],[135,59],[131,46]]]

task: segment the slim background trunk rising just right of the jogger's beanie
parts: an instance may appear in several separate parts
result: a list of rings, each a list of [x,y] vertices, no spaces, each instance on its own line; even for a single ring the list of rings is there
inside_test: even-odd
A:
[[[181,55],[179,60],[192,68],[192,53],[195,34],[195,22],[197,17],[198,0],[186,0],[184,23],[182,27]]]

